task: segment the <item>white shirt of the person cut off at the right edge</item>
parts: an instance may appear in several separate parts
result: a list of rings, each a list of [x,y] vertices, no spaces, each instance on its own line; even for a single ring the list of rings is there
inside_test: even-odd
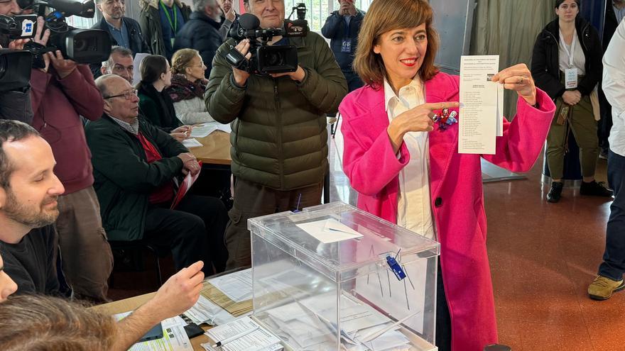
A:
[[[625,19],[616,28],[603,57],[602,87],[612,105],[610,150],[625,157]]]

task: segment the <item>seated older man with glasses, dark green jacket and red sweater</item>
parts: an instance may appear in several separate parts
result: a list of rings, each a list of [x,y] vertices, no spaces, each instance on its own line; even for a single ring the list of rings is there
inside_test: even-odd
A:
[[[150,240],[172,250],[175,269],[197,260],[222,272],[227,260],[227,212],[219,199],[187,194],[170,209],[173,180],[200,172],[195,157],[177,140],[139,118],[138,97],[114,74],[96,80],[104,116],[85,128],[92,152],[94,188],[109,240]]]

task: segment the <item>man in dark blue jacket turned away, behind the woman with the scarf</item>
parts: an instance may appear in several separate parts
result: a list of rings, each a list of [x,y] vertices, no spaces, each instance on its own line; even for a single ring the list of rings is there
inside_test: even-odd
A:
[[[195,11],[189,16],[189,21],[176,34],[174,52],[180,49],[192,48],[200,52],[202,61],[206,65],[204,76],[210,77],[212,58],[219,45],[222,45],[221,13],[217,0],[194,0]]]

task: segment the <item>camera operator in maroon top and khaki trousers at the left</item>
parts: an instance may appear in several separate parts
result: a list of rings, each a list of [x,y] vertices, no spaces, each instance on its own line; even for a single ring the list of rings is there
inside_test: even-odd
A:
[[[45,46],[50,30],[43,28],[40,17],[33,41]],[[60,50],[43,54],[43,62],[43,68],[31,71],[32,124],[52,147],[54,172],[65,186],[55,223],[62,269],[77,297],[107,301],[113,257],[92,186],[91,154],[80,118],[100,118],[104,101],[88,65],[66,60]]]

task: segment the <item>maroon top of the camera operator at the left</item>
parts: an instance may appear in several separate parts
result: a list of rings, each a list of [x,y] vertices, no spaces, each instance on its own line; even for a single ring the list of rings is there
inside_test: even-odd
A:
[[[102,116],[104,101],[87,65],[78,65],[65,79],[50,67],[48,73],[31,73],[33,127],[52,147],[57,162],[54,172],[65,194],[93,184],[91,152],[80,115],[95,121]]]

